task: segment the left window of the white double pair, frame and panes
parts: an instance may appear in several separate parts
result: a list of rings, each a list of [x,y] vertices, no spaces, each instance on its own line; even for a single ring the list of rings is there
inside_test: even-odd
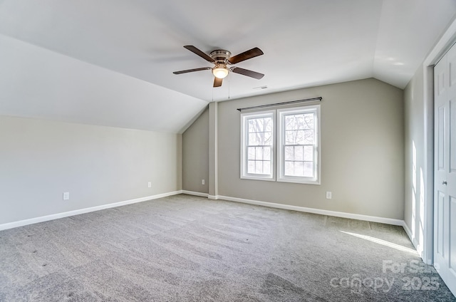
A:
[[[275,112],[242,114],[241,178],[274,180]]]

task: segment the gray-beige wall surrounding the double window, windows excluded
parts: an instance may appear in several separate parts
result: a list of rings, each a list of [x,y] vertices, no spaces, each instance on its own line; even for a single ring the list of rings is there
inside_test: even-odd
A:
[[[316,96],[323,98],[321,185],[240,179],[236,108]],[[403,114],[403,90],[372,78],[221,102],[219,195],[403,219]]]

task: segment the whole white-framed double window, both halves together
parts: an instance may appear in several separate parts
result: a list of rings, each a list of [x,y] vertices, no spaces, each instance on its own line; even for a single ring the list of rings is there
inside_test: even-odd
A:
[[[320,184],[320,105],[241,116],[241,178]]]

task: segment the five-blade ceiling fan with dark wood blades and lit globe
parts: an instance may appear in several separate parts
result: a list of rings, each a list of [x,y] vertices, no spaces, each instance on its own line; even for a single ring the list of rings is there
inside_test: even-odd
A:
[[[212,51],[207,55],[203,51],[200,51],[198,48],[192,45],[184,46],[192,53],[197,54],[204,60],[214,63],[214,67],[202,67],[202,68],[194,68],[194,69],[187,69],[185,71],[175,71],[173,72],[175,75],[180,75],[181,73],[192,73],[194,71],[209,71],[212,70],[212,74],[214,75],[214,87],[222,86],[222,80],[227,77],[229,71],[233,73],[239,73],[241,75],[247,75],[251,78],[260,79],[264,77],[263,73],[257,73],[256,71],[249,71],[248,69],[239,68],[236,66],[227,67],[228,65],[236,64],[249,58],[254,58],[256,56],[261,56],[263,51],[258,47],[252,48],[249,51],[244,51],[243,53],[239,53],[239,55],[231,56],[229,51],[225,51],[224,49],[217,49]]]

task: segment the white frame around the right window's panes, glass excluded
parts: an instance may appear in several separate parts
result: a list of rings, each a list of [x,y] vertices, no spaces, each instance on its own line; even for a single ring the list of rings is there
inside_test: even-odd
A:
[[[285,119],[286,115],[301,114],[301,113],[314,113],[316,116],[315,121],[315,140],[314,143],[314,177],[300,177],[300,176],[286,176],[284,175],[285,169],[285,155],[284,155],[284,141],[285,141]],[[308,105],[299,108],[286,108],[277,110],[279,123],[277,125],[277,137],[279,143],[277,144],[277,182],[296,182],[300,184],[320,184],[320,105]]]

